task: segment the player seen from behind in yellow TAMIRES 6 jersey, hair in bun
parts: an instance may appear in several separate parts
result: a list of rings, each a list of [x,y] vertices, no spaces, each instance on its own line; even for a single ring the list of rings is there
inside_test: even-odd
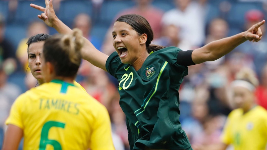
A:
[[[12,105],[3,150],[17,149],[23,136],[24,149],[114,150],[107,109],[73,84],[82,45],[77,29],[46,39],[41,55],[46,83]]]

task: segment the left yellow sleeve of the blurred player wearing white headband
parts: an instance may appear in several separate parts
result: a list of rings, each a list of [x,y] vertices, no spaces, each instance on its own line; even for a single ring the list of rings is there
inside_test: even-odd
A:
[[[232,144],[233,143],[233,139],[231,137],[231,113],[229,114],[227,121],[225,123],[224,129],[222,131],[221,134],[221,142],[224,144]]]

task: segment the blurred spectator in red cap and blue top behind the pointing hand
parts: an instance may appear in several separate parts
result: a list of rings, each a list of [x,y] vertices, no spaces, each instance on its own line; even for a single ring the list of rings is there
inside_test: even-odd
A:
[[[264,19],[264,13],[259,10],[249,10],[245,14],[245,24],[244,31],[249,28],[250,25],[255,24],[258,20]],[[247,54],[253,60],[255,71],[257,76],[260,76],[261,70],[267,63],[267,35],[266,35],[266,25],[260,27],[262,31],[262,39],[257,44],[254,42],[244,42],[239,45],[236,49],[237,51]]]

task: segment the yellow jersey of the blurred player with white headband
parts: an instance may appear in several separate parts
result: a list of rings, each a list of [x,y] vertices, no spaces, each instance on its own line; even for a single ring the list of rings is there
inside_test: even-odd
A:
[[[234,150],[265,150],[267,144],[267,111],[255,106],[243,114],[233,110],[225,124],[222,142],[234,146]]]

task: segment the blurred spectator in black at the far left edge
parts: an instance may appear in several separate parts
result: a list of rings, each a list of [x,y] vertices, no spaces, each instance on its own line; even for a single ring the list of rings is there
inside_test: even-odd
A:
[[[15,49],[10,41],[5,38],[5,21],[0,14],[0,63],[5,63],[3,68],[9,75],[17,68],[17,61],[15,59]]]

